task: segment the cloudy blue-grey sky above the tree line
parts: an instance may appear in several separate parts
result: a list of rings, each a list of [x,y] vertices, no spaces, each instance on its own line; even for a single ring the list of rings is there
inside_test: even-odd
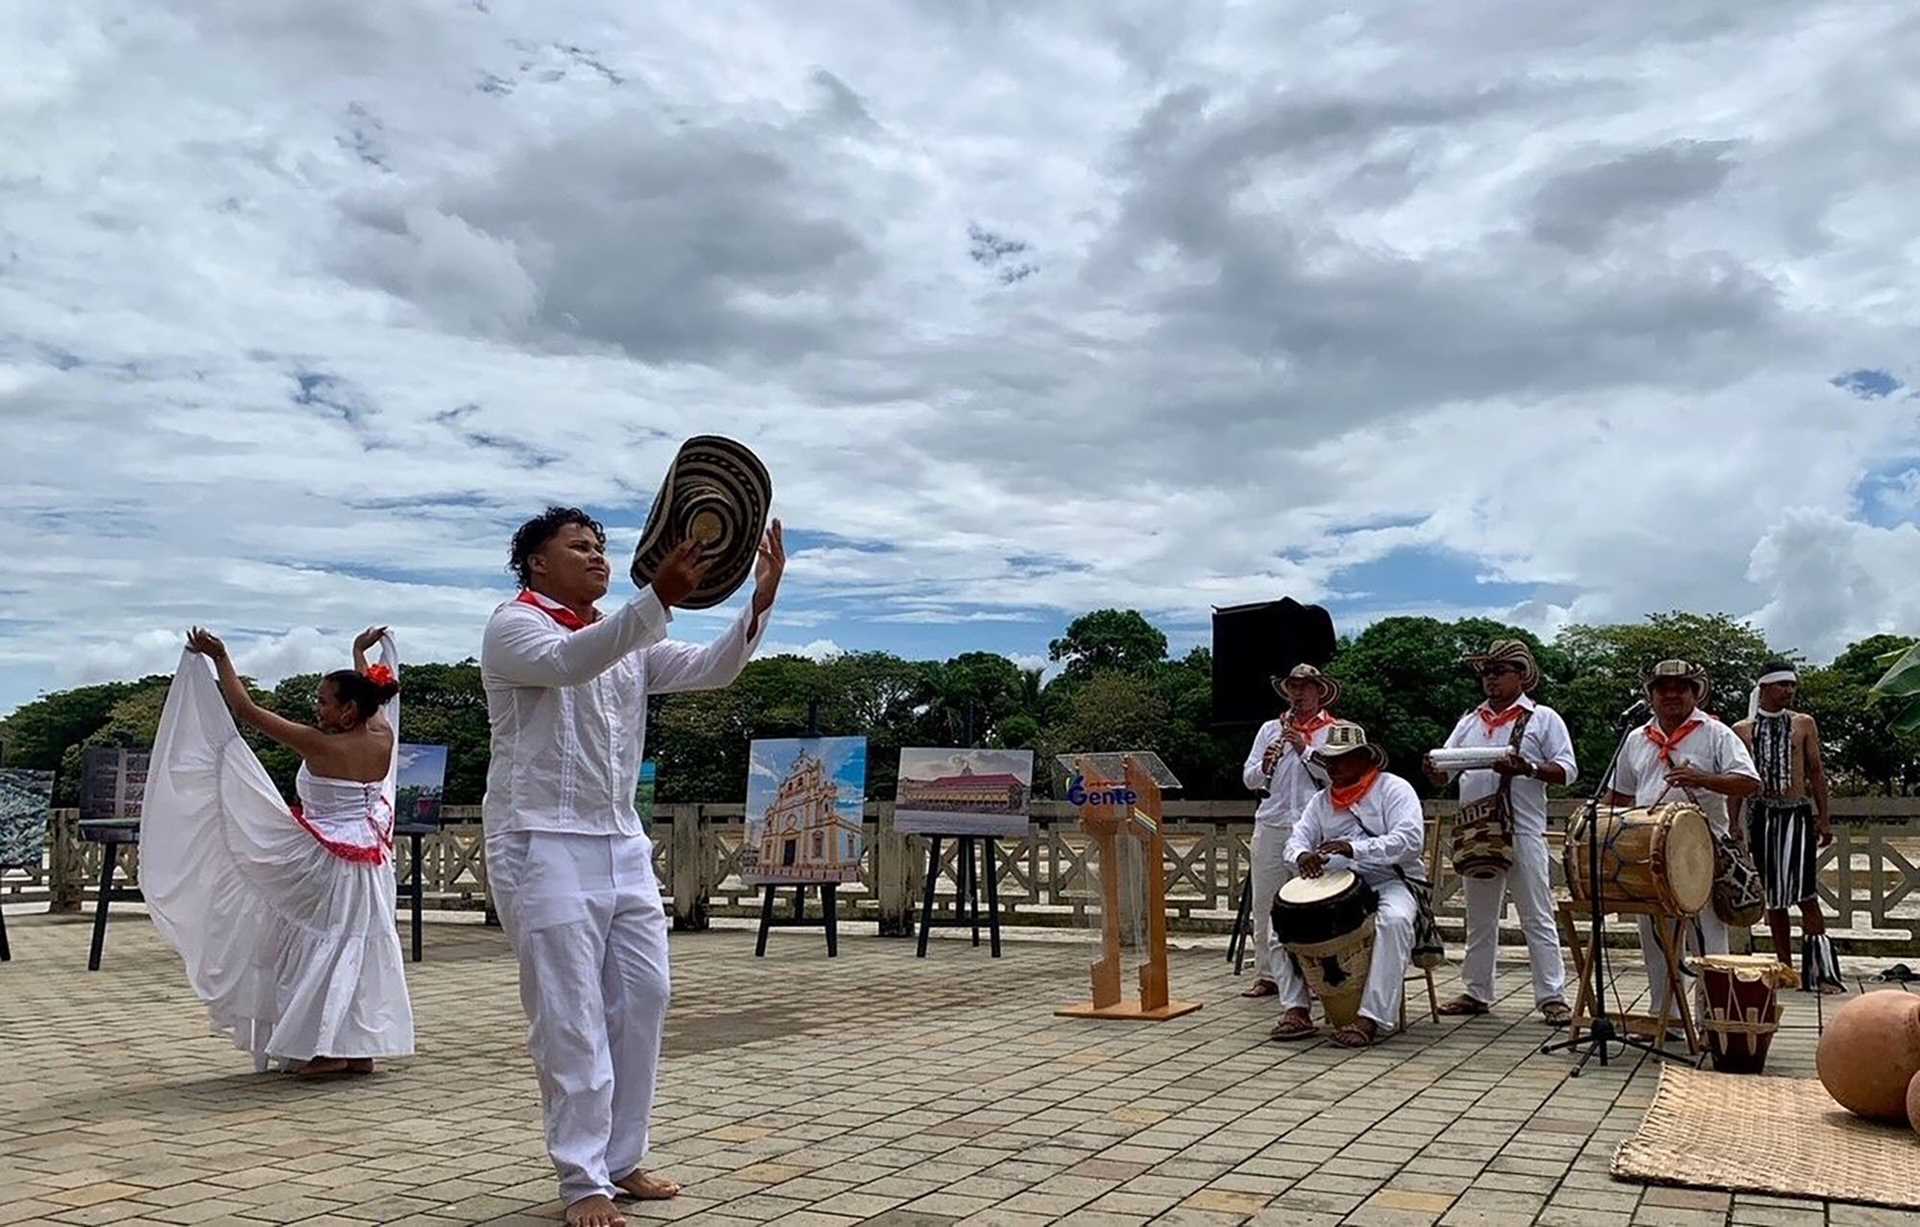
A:
[[[774,639],[1920,628],[1907,0],[0,6],[0,710],[459,659],[768,463]],[[712,616],[678,632],[705,638]]]

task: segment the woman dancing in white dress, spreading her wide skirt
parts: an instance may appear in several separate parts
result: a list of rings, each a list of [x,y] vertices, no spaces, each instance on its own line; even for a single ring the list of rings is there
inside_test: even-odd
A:
[[[397,651],[384,626],[353,639],[353,664],[321,680],[317,728],[296,724],[253,703],[227,645],[194,628],[154,737],[140,885],[213,1031],[255,1070],[371,1073],[376,1056],[413,1054],[394,927]],[[298,808],[234,716],[300,755]]]

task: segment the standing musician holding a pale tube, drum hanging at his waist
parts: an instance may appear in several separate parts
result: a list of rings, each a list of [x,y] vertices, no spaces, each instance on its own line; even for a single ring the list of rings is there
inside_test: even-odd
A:
[[[1467,991],[1440,1012],[1486,1014],[1494,1008],[1494,956],[1511,891],[1526,935],[1526,962],[1534,972],[1534,1008],[1548,1025],[1563,1027],[1572,1010],[1565,998],[1567,966],[1561,962],[1553,883],[1548,878],[1548,785],[1574,782],[1572,737],[1557,710],[1528,697],[1540,686],[1540,666],[1524,641],[1496,639],[1484,653],[1467,657],[1465,664],[1480,674],[1486,703],[1459,718],[1446,749],[1507,747],[1507,757],[1490,770],[1461,772],[1459,801],[1467,806],[1503,793],[1513,866],[1492,878],[1465,879],[1467,962],[1461,983]],[[1425,770],[1436,785],[1452,780],[1432,757]]]

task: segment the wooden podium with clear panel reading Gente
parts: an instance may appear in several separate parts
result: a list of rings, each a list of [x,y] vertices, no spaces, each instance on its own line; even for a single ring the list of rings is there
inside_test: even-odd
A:
[[[1135,1022],[1165,1022],[1200,1008],[1196,1000],[1167,998],[1167,862],[1165,839],[1160,830],[1160,780],[1179,787],[1158,757],[1133,755],[1062,755],[1071,776],[1085,791],[1079,801],[1081,830],[1091,841],[1089,853],[1098,854],[1098,866],[1087,868],[1100,879],[1100,941],[1092,960],[1092,1000],[1062,1006],[1062,1018],[1121,1018]],[[1117,770],[1116,770],[1117,768]],[[1069,791],[1069,801],[1073,799]],[[1137,847],[1142,858],[1144,891],[1139,899],[1146,922],[1146,949],[1140,960],[1140,998],[1121,1000],[1119,956],[1125,901],[1121,899],[1121,853]],[[1087,866],[1087,858],[1081,862]]]

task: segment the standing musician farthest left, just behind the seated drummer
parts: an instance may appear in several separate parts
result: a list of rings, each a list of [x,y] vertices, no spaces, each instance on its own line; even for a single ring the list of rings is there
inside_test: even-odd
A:
[[[1315,1031],[1308,985],[1273,935],[1273,897],[1294,876],[1286,862],[1286,837],[1300,810],[1327,782],[1311,755],[1327,741],[1332,724],[1327,709],[1340,697],[1340,684],[1311,664],[1296,664],[1284,678],[1273,678],[1273,689],[1286,699],[1286,714],[1260,726],[1242,768],[1246,787],[1263,797],[1254,810],[1252,887],[1254,970],[1260,979],[1240,997],[1279,997],[1286,1012],[1275,1023],[1273,1039],[1306,1039]]]

